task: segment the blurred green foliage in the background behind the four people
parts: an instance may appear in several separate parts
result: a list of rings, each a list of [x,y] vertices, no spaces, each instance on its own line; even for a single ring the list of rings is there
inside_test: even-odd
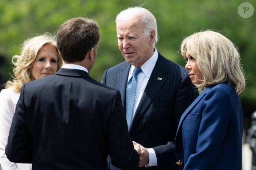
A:
[[[205,29],[221,32],[240,49],[247,85],[240,94],[245,128],[256,110],[256,13],[250,18],[238,14],[242,0],[1,0],[0,55],[6,58],[0,76],[7,81],[12,73],[11,58],[31,36],[57,33],[66,20],[86,16],[101,28],[98,57],[90,76],[102,80],[105,69],[124,61],[116,36],[116,15],[127,7],[143,4],[158,22],[156,48],[166,58],[184,66],[179,49],[184,37]],[[255,7],[256,1],[247,0]],[[254,37],[254,38],[253,38]],[[4,88],[1,86],[1,88]]]

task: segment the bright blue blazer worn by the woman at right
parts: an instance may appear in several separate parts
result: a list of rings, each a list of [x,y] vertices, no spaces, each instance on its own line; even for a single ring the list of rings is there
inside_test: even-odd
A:
[[[233,87],[205,88],[183,113],[175,139],[181,170],[241,170],[243,114]]]

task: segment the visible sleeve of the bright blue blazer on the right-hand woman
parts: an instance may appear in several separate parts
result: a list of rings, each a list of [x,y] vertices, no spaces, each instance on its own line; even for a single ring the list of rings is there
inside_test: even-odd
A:
[[[203,112],[196,137],[196,152],[188,157],[184,170],[210,170],[214,168],[227,133],[231,117],[230,108],[232,108],[232,101],[225,89],[211,90],[207,93],[203,101]],[[186,128],[185,124],[183,128]],[[188,131],[189,129],[184,130]],[[190,137],[189,140],[196,139]]]

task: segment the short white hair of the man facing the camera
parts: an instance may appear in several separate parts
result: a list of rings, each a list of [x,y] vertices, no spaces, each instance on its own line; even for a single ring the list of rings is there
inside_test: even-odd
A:
[[[144,26],[144,34],[149,36],[151,30],[155,31],[155,40],[153,47],[158,42],[158,34],[157,34],[157,22],[154,18],[154,15],[151,14],[150,11],[143,7],[129,7],[128,9],[121,11],[116,18],[116,23],[119,20],[129,20],[131,18],[139,16],[141,18],[141,22]]]

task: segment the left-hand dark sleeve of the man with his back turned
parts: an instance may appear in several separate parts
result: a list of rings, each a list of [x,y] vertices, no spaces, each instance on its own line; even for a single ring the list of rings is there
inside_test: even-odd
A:
[[[24,105],[25,84],[20,92],[5,148],[7,158],[15,163],[32,163],[32,141],[28,135],[27,112]]]

